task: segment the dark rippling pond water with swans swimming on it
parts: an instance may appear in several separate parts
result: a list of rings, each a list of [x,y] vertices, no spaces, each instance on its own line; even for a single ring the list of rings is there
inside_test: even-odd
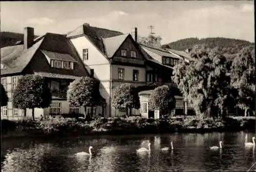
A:
[[[3,171],[246,171],[256,161],[254,133],[173,133],[2,139]],[[162,151],[173,141],[174,150]],[[210,150],[219,145],[222,150]],[[139,148],[151,152],[137,153]],[[76,156],[89,152],[92,156]]]

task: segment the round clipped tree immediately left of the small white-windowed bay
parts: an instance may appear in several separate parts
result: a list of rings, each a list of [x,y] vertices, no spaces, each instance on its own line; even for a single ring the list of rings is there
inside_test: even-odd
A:
[[[116,109],[125,109],[127,116],[128,108],[139,109],[140,98],[137,89],[133,85],[127,83],[118,85],[113,94],[112,106]]]

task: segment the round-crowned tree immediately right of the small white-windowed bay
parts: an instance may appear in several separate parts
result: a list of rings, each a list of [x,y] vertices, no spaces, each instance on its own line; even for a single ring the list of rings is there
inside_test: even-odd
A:
[[[150,96],[150,109],[159,110],[160,114],[168,114],[175,109],[175,91],[172,87],[163,85],[154,89]]]

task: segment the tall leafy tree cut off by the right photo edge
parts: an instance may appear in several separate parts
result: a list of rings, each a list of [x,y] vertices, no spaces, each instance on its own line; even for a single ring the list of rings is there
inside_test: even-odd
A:
[[[238,106],[255,111],[255,46],[244,47],[233,59],[231,85],[238,89]]]

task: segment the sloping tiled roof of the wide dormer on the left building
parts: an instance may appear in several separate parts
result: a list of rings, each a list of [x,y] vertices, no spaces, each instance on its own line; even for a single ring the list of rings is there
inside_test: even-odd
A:
[[[41,50],[41,52],[44,53],[47,57],[49,57],[52,60],[77,62],[73,57],[71,57],[69,54],[66,54],[66,53],[56,53],[56,52],[50,52],[46,50]]]

